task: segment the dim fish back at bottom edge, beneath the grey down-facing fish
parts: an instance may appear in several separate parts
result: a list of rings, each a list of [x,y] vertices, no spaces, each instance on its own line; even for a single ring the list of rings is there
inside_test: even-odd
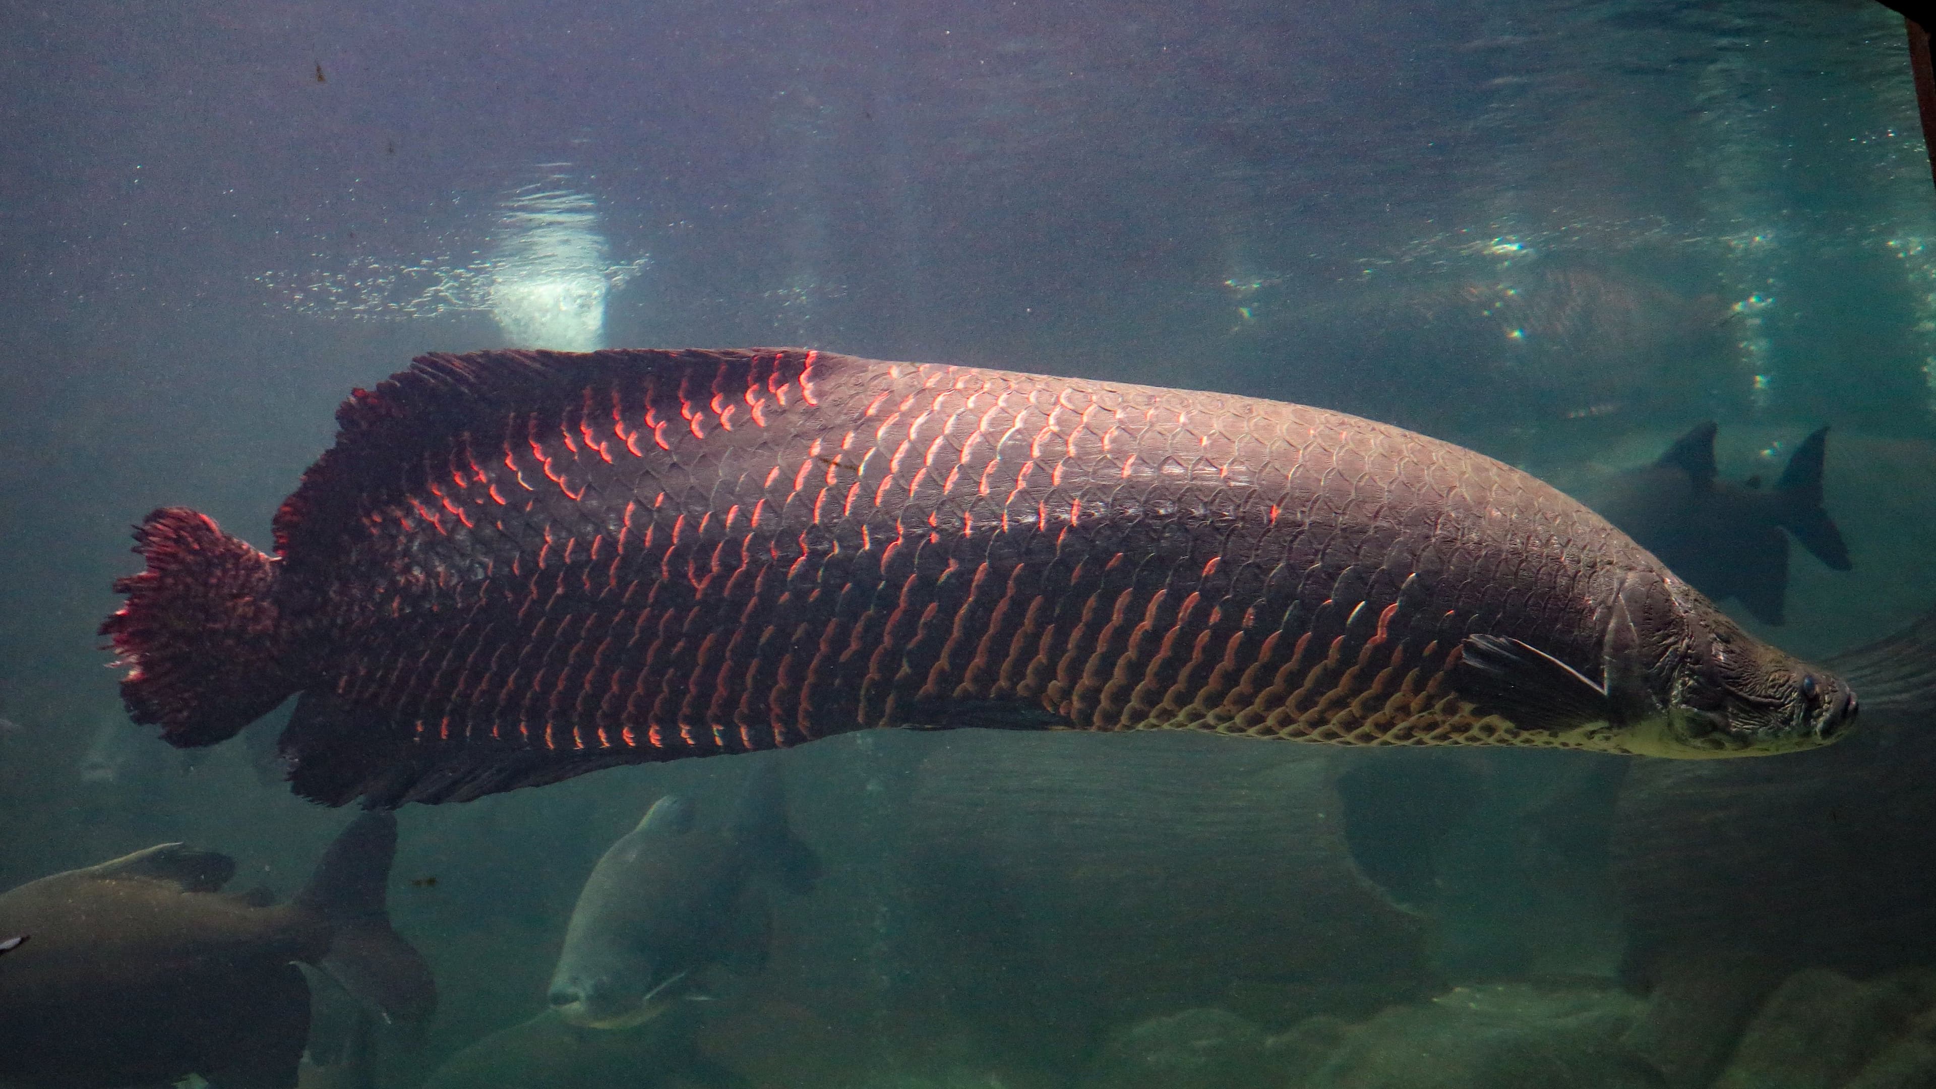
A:
[[[459,1050],[424,1089],[751,1089],[745,1077],[707,1058],[691,1027],[676,1021],[656,1017],[633,1029],[598,1031],[546,1010]]]

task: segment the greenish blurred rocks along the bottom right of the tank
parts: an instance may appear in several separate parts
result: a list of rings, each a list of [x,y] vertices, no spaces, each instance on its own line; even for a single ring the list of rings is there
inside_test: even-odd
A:
[[[1113,1035],[1080,1089],[1930,1089],[1936,971],[1866,980],[1698,957],[1611,984],[1458,986],[1268,1033],[1185,1010]]]

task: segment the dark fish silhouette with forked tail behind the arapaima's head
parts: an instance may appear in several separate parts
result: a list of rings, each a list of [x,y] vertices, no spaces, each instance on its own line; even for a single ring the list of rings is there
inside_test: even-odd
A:
[[[1588,496],[1597,510],[1704,595],[1740,601],[1756,620],[1781,624],[1793,533],[1818,560],[1847,572],[1849,546],[1822,510],[1828,428],[1810,434],[1789,467],[1764,488],[1721,481],[1715,424],[1680,436],[1653,465],[1628,469]],[[1783,533],[1787,531],[1787,533]]]

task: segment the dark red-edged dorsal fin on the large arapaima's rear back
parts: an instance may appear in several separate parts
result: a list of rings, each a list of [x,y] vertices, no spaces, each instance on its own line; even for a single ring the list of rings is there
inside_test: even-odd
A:
[[[337,535],[360,512],[422,482],[426,461],[447,457],[461,434],[501,442],[517,413],[550,413],[554,420],[587,405],[610,413],[614,391],[635,401],[654,382],[656,397],[670,397],[674,409],[683,397],[745,397],[753,386],[811,389],[846,358],[805,349],[422,355],[376,389],[354,389],[337,409],[335,446],[275,513],[277,552],[327,564]]]

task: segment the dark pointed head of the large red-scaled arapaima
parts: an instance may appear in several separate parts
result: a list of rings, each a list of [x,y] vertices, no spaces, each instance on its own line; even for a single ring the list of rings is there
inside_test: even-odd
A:
[[[1663,740],[1673,756],[1766,756],[1818,748],[1855,725],[1855,690],[1826,669],[1756,639],[1686,583]]]

